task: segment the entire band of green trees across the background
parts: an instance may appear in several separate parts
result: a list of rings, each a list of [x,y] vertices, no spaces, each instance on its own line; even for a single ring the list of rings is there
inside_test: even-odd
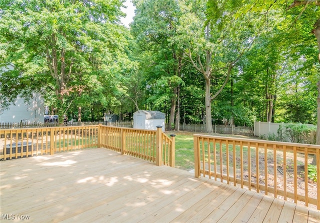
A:
[[[123,1],[1,1],[0,67],[12,68],[1,71],[0,109],[37,91],[79,120],[156,109],[176,130],[317,123],[318,1],[132,0],[129,28]]]

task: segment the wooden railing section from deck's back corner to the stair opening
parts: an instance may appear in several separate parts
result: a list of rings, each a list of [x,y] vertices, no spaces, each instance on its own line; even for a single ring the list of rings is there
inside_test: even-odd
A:
[[[157,130],[99,125],[98,147],[112,149],[122,154],[174,166],[174,134],[169,138]]]

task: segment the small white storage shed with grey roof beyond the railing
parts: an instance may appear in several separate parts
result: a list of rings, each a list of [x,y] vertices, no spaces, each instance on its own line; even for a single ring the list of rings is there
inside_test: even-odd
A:
[[[162,125],[164,131],[165,114],[158,110],[137,110],[133,113],[133,128],[156,130]]]

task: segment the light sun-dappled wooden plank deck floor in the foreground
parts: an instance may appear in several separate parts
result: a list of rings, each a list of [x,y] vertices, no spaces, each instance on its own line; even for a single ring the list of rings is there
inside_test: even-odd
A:
[[[0,168],[1,222],[320,222],[320,211],[102,148]]]

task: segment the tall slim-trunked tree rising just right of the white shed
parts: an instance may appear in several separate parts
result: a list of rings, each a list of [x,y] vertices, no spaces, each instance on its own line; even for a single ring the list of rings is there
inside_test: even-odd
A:
[[[131,23],[132,34],[137,39],[140,49],[140,64],[144,65],[144,73],[149,85],[162,81],[166,76],[168,89],[166,94],[170,100],[169,128],[179,126],[179,88],[181,70],[181,53],[169,39],[175,35],[178,17],[181,12],[177,1],[134,0],[136,10]],[[141,55],[143,54],[143,55]],[[171,81],[174,80],[174,81]],[[177,85],[175,84],[177,83]],[[158,84],[155,84],[158,86]],[[153,92],[162,92],[154,89]],[[152,98],[164,95],[152,95]],[[166,98],[168,99],[168,98]],[[149,100],[150,101],[150,100]],[[152,100],[151,100],[152,101]],[[175,115],[176,114],[176,115]],[[176,119],[174,119],[176,116]],[[176,129],[178,130],[178,129]]]

